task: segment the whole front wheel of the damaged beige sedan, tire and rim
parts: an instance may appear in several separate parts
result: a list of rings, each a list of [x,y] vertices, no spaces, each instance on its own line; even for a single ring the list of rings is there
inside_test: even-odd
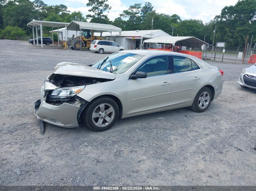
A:
[[[105,131],[115,124],[118,115],[119,108],[115,100],[100,97],[86,106],[83,121],[93,131]]]

